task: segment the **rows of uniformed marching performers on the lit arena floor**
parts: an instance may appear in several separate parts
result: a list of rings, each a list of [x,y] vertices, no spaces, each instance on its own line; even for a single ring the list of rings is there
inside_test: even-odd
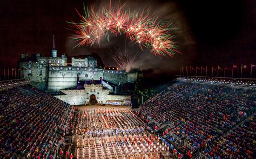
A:
[[[169,146],[145,131],[128,109],[93,109],[77,113],[77,158],[168,158]]]

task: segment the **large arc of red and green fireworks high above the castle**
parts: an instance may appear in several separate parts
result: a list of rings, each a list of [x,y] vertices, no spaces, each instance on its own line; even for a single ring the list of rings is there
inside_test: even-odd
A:
[[[77,10],[76,10],[77,11]],[[141,49],[151,48],[151,52],[158,56],[173,56],[176,50],[173,35],[170,32],[170,23],[153,18],[150,11],[133,11],[124,6],[116,5],[104,7],[95,11],[94,8],[85,8],[85,15],[80,16],[79,23],[70,22],[71,30],[75,32],[72,38],[78,42],[75,46],[92,46],[99,44],[100,38],[109,41],[109,34],[125,34],[127,39],[136,42]]]

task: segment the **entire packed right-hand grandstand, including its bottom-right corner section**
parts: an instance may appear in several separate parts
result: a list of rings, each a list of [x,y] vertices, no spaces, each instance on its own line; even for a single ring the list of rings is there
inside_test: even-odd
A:
[[[177,82],[140,111],[188,157],[254,158],[255,99],[254,89]]]

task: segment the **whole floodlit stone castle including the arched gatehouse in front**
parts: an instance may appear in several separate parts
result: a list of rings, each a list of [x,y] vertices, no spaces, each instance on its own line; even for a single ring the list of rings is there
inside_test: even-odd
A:
[[[72,105],[92,102],[129,105],[130,95],[118,95],[117,88],[142,77],[141,71],[135,68],[127,73],[114,67],[102,68],[91,55],[71,57],[69,61],[64,54],[58,57],[56,49],[52,50],[52,57],[22,54],[19,69],[20,76],[29,78],[33,86],[63,94],[56,97]]]

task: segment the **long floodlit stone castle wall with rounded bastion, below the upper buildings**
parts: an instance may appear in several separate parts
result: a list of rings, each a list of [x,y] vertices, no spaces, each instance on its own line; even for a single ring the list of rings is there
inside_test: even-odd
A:
[[[59,92],[62,89],[74,88],[79,80],[99,80],[100,77],[114,84],[134,82],[139,77],[138,73],[125,71],[106,70],[92,67],[49,66],[47,61],[21,62],[20,76],[29,78],[31,84],[49,92]]]

